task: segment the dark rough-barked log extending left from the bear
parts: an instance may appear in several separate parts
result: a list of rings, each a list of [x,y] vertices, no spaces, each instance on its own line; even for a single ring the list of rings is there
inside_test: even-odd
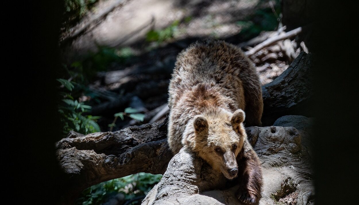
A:
[[[165,120],[86,136],[70,132],[56,143],[57,159],[70,179],[62,203],[70,204],[100,182],[138,172],[163,174],[173,156],[166,134]]]

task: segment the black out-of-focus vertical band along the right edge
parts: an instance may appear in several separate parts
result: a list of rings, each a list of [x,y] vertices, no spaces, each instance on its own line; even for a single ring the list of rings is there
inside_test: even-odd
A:
[[[316,204],[355,204],[359,42],[348,29],[358,27],[352,24],[358,3],[316,1],[315,6],[320,8],[313,30]]]

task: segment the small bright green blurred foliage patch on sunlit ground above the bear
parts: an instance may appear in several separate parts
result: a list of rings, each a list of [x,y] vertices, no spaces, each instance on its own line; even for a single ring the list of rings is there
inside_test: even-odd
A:
[[[187,19],[191,20],[191,19]],[[174,34],[177,32],[177,27],[180,21],[176,20],[171,25],[164,29],[150,30],[147,33],[146,40],[148,42],[162,43],[166,40],[172,39]]]

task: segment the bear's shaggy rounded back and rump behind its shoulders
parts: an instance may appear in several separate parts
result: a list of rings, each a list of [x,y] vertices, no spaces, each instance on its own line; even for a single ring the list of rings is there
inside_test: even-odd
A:
[[[232,44],[219,40],[192,43],[177,56],[169,85],[169,108],[187,91],[203,83],[236,101],[238,106],[234,110],[244,110],[242,78],[253,75],[256,71],[251,61]]]

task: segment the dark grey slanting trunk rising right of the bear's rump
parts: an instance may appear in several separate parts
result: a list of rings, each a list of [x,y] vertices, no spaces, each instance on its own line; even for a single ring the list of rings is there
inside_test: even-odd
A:
[[[262,86],[263,126],[270,126],[285,115],[311,115],[312,61],[311,53],[302,52],[280,76]]]

